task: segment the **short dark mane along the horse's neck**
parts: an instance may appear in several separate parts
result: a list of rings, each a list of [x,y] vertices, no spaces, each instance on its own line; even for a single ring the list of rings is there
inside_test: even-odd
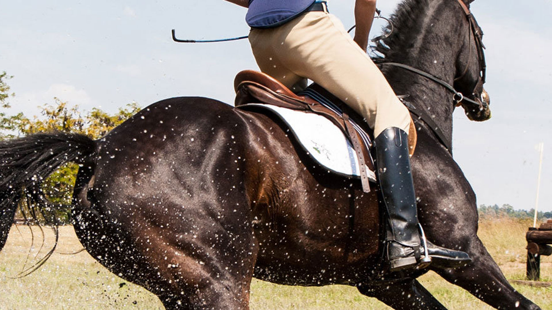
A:
[[[404,0],[399,3],[389,20],[393,24],[393,32],[389,37],[376,42],[375,51],[383,56],[376,56],[374,62],[395,61],[402,62],[405,51],[415,38],[411,36],[412,29],[420,29],[417,24],[422,23],[423,14],[429,7],[429,0]],[[384,32],[391,31],[391,25],[383,28]]]

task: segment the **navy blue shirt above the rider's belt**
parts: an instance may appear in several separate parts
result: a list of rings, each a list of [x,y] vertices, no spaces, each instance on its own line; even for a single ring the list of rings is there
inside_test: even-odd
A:
[[[304,12],[315,0],[250,0],[247,24],[253,28],[283,25]]]

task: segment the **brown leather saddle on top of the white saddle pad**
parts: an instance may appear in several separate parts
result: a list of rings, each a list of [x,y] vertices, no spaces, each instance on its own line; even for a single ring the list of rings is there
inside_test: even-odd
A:
[[[254,70],[243,70],[238,73],[234,80],[234,89],[236,90],[235,106],[238,108],[245,108],[247,104],[261,103],[306,113],[316,113],[329,119],[341,129],[353,145],[359,160],[362,189],[366,193],[370,192],[367,169],[374,171],[374,164],[369,151],[371,143],[369,139],[366,139],[368,130],[359,128],[358,124],[365,124],[365,122],[341,100],[316,84],[312,84],[304,92],[294,94],[278,80]],[[313,97],[317,97],[309,95],[313,93],[331,101],[332,104],[337,106],[337,109],[323,105],[313,99]],[[357,119],[357,121],[353,121],[350,116]]]

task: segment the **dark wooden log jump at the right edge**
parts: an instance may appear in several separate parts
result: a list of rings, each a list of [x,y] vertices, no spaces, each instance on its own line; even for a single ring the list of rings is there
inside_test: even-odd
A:
[[[540,279],[540,257],[552,254],[552,220],[541,224],[539,228],[529,227],[527,239],[527,280]]]

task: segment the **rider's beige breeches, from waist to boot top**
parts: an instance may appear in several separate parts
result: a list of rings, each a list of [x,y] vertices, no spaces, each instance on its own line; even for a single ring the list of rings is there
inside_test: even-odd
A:
[[[249,40],[262,72],[293,91],[311,79],[360,113],[374,137],[389,127],[410,131],[407,108],[333,15],[308,12],[278,28],[252,29]]]

